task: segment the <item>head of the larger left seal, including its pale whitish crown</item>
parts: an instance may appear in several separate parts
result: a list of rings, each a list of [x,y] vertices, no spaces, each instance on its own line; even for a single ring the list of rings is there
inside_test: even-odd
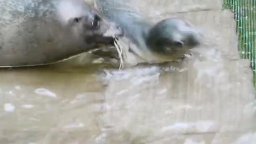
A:
[[[88,45],[109,44],[113,37],[123,33],[119,25],[99,16],[81,0],[61,0],[56,7],[62,26]]]

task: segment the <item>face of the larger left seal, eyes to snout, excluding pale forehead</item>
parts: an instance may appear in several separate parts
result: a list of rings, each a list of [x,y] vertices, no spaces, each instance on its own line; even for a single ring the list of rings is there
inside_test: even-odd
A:
[[[71,18],[68,20],[67,28],[77,39],[84,40],[88,48],[112,44],[116,35],[122,35],[121,27],[110,21],[107,22],[98,14]]]

